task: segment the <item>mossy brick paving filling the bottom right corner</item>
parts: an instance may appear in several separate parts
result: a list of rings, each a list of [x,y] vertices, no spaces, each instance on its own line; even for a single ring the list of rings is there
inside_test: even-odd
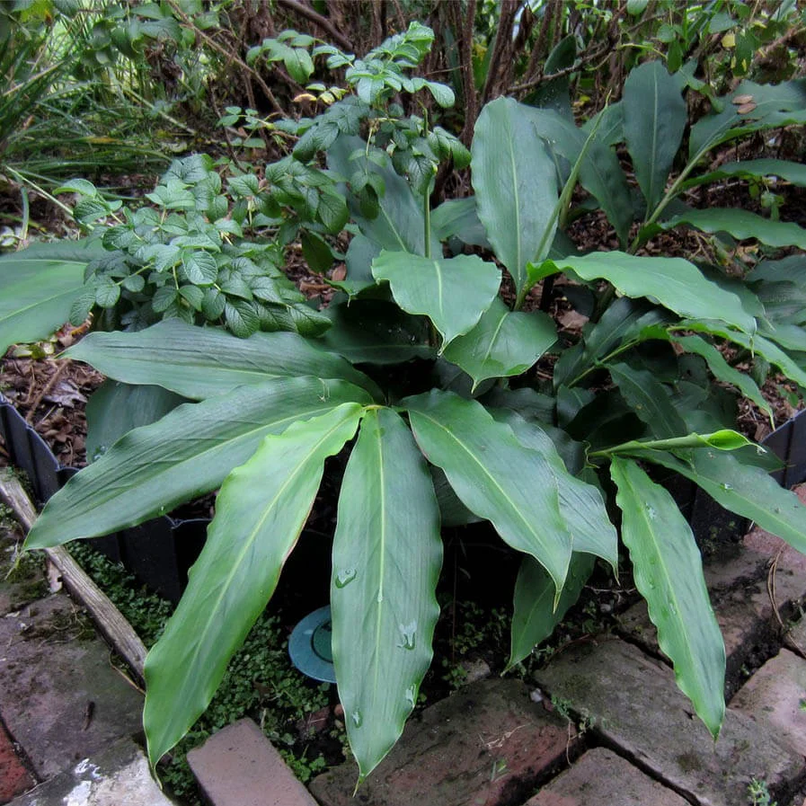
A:
[[[806,501],[806,487],[799,495]],[[758,779],[778,806],[806,806],[806,660],[796,654],[806,648],[806,618],[793,623],[806,597],[806,558],[754,529],[733,557],[706,567],[706,579],[728,654],[729,708],[716,743],[678,690],[646,607],[638,605],[624,614],[620,637],[572,646],[539,673],[543,703],[553,698],[584,731],[560,757],[546,758],[528,743],[518,748],[515,769],[528,775],[516,773],[516,785],[480,780],[481,760],[496,767],[473,737],[524,722],[512,709],[530,692],[510,680],[504,693],[501,681],[486,680],[411,722],[356,800],[352,763],[317,778],[311,791],[322,806],[743,806],[751,802],[748,784]],[[498,705],[491,692],[501,697]],[[509,753],[500,748],[500,769],[509,769]],[[473,785],[464,789],[467,781]]]

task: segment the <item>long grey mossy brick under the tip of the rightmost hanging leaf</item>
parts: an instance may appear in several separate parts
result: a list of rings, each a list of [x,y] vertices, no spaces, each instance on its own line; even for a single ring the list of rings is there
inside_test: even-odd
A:
[[[806,774],[800,753],[733,708],[714,742],[672,670],[625,642],[602,638],[572,645],[535,677],[541,689],[588,716],[595,738],[701,806],[745,802],[754,775],[784,801]]]

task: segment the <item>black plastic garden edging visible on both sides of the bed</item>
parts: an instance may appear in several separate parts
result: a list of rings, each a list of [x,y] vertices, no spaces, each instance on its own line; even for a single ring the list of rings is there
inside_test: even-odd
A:
[[[48,445],[0,394],[0,436],[13,465],[31,479],[40,504],[76,473],[58,463]],[[785,487],[806,480],[806,412],[784,423],[763,442],[784,462],[773,474]],[[748,520],[723,509],[694,483],[681,480],[672,493],[691,524],[701,546],[735,542],[745,534]],[[182,520],[164,516],[114,535],[95,538],[96,548],[123,564],[138,580],[176,602],[188,581],[188,569],[199,556],[206,536],[207,519]]]

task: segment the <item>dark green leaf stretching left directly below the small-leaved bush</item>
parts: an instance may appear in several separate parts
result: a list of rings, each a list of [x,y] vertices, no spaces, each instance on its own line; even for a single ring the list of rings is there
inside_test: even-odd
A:
[[[168,319],[144,331],[90,333],[66,355],[126,384],[163,386],[191,400],[288,376],[342,378],[380,394],[349,361],[290,332],[239,339],[218,328]]]

